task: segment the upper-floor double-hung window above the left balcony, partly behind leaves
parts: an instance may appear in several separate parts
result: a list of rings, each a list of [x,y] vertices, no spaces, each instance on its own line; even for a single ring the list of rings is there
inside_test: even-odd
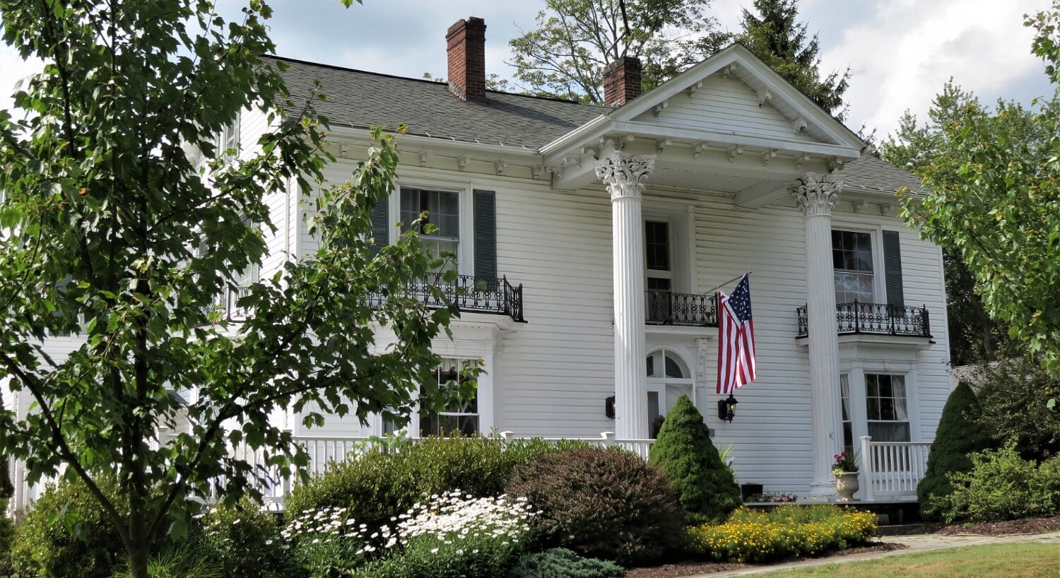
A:
[[[444,260],[444,264],[439,270],[458,270],[460,193],[402,187],[401,220],[403,228],[410,228],[424,211],[427,212],[427,218],[420,223],[420,241],[432,257]],[[425,232],[427,224],[431,224],[438,229],[427,233]]]

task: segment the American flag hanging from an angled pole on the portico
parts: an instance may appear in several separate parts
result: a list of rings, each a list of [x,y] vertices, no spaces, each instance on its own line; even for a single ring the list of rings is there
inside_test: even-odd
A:
[[[747,277],[732,295],[718,292],[718,392],[723,396],[755,381],[755,320]]]

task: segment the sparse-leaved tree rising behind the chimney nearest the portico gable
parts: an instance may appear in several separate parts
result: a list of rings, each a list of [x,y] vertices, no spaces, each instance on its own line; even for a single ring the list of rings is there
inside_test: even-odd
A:
[[[545,0],[534,29],[511,40],[515,84],[533,94],[603,104],[603,69],[640,58],[650,90],[725,38],[710,0]],[[706,53],[709,53],[706,52]]]

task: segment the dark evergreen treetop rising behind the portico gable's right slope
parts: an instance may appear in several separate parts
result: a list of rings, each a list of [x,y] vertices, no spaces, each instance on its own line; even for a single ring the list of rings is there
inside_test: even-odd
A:
[[[850,69],[822,76],[820,42],[799,22],[798,0],[755,0],[757,15],[744,8],[739,38],[773,70],[840,120],[846,117],[843,93]]]

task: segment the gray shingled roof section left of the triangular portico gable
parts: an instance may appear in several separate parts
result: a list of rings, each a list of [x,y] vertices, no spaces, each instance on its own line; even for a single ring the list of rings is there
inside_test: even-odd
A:
[[[390,76],[272,56],[294,97],[320,82],[318,111],[332,126],[408,125],[411,135],[537,150],[605,113],[607,108],[488,90],[484,104],[466,103],[444,83]]]

